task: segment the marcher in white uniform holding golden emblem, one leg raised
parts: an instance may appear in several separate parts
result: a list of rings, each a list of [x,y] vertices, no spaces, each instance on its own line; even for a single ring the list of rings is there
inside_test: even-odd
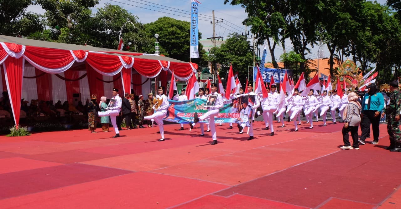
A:
[[[168,98],[166,95],[163,94],[163,87],[160,86],[157,90],[156,102],[152,107],[152,109],[156,110],[156,112],[153,113],[152,115],[144,117],[145,120],[154,119],[154,121],[156,121],[159,127],[160,135],[162,136],[162,138],[159,139],[159,141],[164,141],[163,118],[166,116],[167,109],[169,106],[170,105],[168,104]]]

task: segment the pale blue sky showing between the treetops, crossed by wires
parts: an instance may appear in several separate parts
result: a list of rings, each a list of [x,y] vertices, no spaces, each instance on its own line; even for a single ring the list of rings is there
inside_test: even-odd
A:
[[[199,4],[199,32],[202,33],[202,39],[213,37],[213,27],[210,23],[212,10],[215,10],[216,20],[220,22],[216,24],[216,36],[223,36],[226,38],[229,33],[232,32],[243,32],[245,34],[245,26],[242,25],[242,21],[247,17],[247,14],[244,8],[241,6],[232,6],[230,4],[225,5],[224,0],[199,1],[202,3]],[[377,2],[385,4],[386,0],[377,0]],[[154,22],[163,16],[190,21],[190,0],[100,0],[96,8],[103,7],[105,3],[122,6],[132,14],[139,16],[139,21],[142,23]],[[93,12],[96,12],[96,8],[93,8]],[[38,5],[30,6],[28,11],[37,13],[44,12]],[[221,19],[223,19],[223,22],[221,22]],[[249,40],[252,42],[250,37]],[[289,40],[286,42],[285,47],[287,52],[292,50],[292,45]],[[263,50],[263,46],[260,46],[260,48]],[[324,49],[325,56],[330,55],[326,46],[322,46],[322,48]],[[312,54],[308,55],[308,58],[317,58],[317,50],[318,46],[315,46],[315,48],[312,49]],[[282,46],[277,46],[275,50],[277,61],[279,61],[279,56],[282,53]],[[269,53],[267,54],[266,62],[271,62]]]

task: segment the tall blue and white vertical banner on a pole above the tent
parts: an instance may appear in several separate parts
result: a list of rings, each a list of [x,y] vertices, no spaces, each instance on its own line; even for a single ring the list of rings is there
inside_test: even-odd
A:
[[[190,58],[199,58],[198,4],[201,4],[201,2],[191,0]]]

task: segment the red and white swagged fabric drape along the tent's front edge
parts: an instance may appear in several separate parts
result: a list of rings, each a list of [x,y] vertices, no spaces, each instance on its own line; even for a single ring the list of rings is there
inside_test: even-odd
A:
[[[127,55],[136,56],[135,53],[127,53]],[[104,52],[89,52],[84,50],[60,50],[53,48],[42,48],[36,46],[22,46],[14,43],[0,42],[0,65],[3,66],[4,80],[6,82],[7,91],[10,95],[10,101],[12,103],[12,111],[16,124],[19,123],[19,112],[20,112],[20,99],[22,92],[22,78],[24,75],[24,63],[25,60],[32,66],[49,74],[63,74],[66,70],[71,68],[75,62],[86,61],[88,72],[88,83],[89,89],[92,94],[92,90],[96,91],[99,95],[104,95],[104,89],[98,89],[97,82],[94,82],[89,77],[89,71],[95,70],[102,76],[115,76],[119,74],[121,80],[119,80],[120,88],[124,90],[122,92],[130,92],[128,89],[131,86],[131,69],[134,68],[139,74],[146,78],[155,78],[160,74],[162,70],[173,70],[174,75],[178,80],[187,80],[190,76],[196,72],[197,65],[192,63],[180,63],[180,62],[167,62],[159,61],[158,59],[145,59],[145,58],[133,58],[131,56],[116,56],[113,54],[107,54]],[[121,74],[120,74],[121,72]],[[69,75],[71,74],[71,75]],[[72,75],[73,74],[73,75]],[[63,75],[63,77],[70,78],[70,76],[76,78],[79,74],[70,73]],[[93,74],[93,73],[91,73]],[[163,74],[164,75],[164,74]],[[42,92],[46,98],[53,98],[55,96],[55,79],[54,76],[48,77],[47,79],[52,82],[53,92],[45,93]],[[38,80],[36,80],[38,82]],[[68,81],[69,82],[69,81]],[[70,84],[70,83],[69,83]],[[79,85],[78,81],[73,81],[71,84]],[[4,85],[2,85],[3,88]],[[60,87],[63,88],[63,87]],[[70,97],[72,92],[79,92],[79,88],[72,89],[71,92],[67,92],[67,98]],[[128,88],[128,89],[127,89]],[[96,90],[97,89],[97,90]],[[39,92],[38,92],[39,93]],[[120,93],[122,94],[122,93]],[[39,96],[39,94],[38,94]],[[70,98],[71,100],[71,98]]]

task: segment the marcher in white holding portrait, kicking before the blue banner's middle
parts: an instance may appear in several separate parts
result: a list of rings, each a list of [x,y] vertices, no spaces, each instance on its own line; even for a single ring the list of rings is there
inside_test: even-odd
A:
[[[220,108],[222,108],[224,106],[223,97],[219,93],[217,93],[217,90],[218,90],[217,84],[211,84],[211,94],[217,95],[215,105],[213,107],[208,107],[207,113],[205,113],[199,117],[198,117],[198,113],[194,113],[194,123],[189,123],[189,125],[191,126],[191,129],[192,129],[197,122],[205,120],[205,119],[209,119],[209,125],[210,125],[210,130],[212,132],[212,139],[213,139],[213,142],[211,143],[211,145],[217,144],[215,117],[217,115],[219,115]]]

